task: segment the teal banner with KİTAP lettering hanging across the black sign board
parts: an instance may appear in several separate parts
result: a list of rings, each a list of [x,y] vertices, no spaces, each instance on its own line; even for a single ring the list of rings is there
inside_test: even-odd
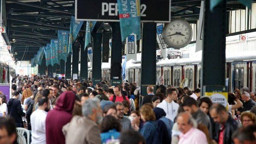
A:
[[[117,0],[122,41],[134,33],[140,39],[140,0]]]

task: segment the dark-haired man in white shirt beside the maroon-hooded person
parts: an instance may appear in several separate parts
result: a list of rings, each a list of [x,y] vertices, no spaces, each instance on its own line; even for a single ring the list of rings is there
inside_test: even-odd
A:
[[[50,102],[47,97],[42,97],[38,100],[38,108],[30,116],[31,122],[31,144],[46,144],[46,127],[45,120],[48,110],[50,108]]]

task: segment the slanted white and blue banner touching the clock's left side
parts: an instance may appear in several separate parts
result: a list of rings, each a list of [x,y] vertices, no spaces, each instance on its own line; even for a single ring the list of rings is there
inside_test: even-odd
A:
[[[166,43],[164,42],[163,38],[163,29],[164,29],[164,24],[162,23],[157,23],[156,24],[156,40],[158,43],[158,46],[161,50],[161,55],[165,59],[167,58],[167,46]]]

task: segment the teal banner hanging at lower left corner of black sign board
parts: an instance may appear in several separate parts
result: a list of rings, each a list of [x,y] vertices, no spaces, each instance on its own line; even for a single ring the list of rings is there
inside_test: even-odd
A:
[[[78,32],[82,27],[84,21],[75,20],[74,16],[71,16],[71,23],[70,23],[70,32],[68,38],[68,55],[72,54],[72,44],[76,40]]]

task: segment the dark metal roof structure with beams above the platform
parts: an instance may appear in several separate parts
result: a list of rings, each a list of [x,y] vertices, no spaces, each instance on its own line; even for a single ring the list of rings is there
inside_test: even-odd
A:
[[[236,0],[227,0],[227,11],[246,9]],[[17,52],[15,60],[31,60],[40,47],[57,37],[58,30],[69,30],[74,0],[3,0],[4,39]],[[172,0],[171,18],[196,23],[201,0]],[[84,31],[84,28],[80,30]],[[24,55],[24,57],[23,57]]]

